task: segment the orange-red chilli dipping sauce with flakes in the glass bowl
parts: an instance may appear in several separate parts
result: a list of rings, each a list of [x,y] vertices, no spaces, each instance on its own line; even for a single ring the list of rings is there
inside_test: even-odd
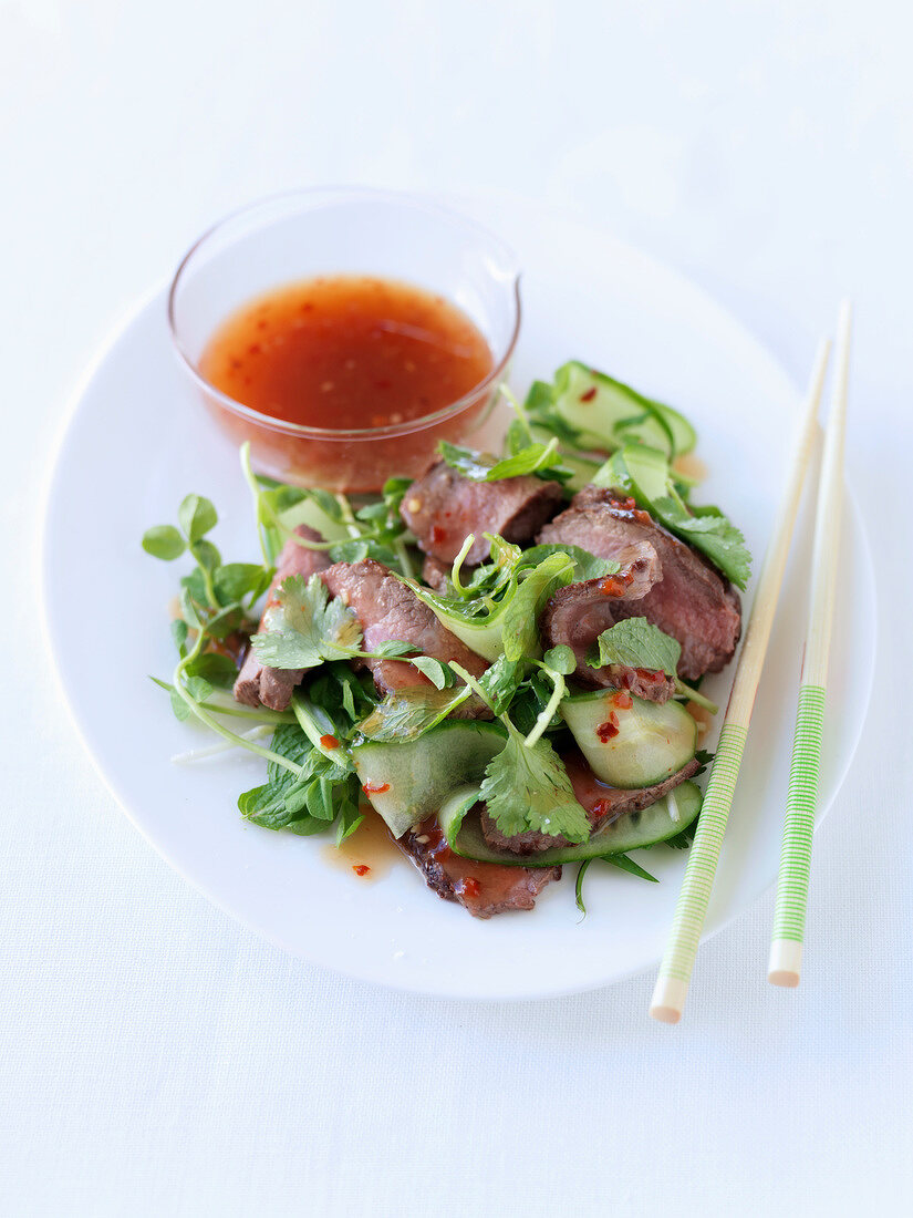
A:
[[[224,395],[274,419],[220,412],[278,476],[332,490],[377,490],[414,476],[438,440],[459,438],[487,406],[487,386],[456,418],[420,420],[471,395],[493,368],[477,326],[421,287],[362,275],[289,284],[257,297],[215,331],[200,373]],[[218,400],[213,400],[218,409]],[[393,426],[396,437],[304,437],[320,429]],[[286,425],[285,430],[282,430]]]

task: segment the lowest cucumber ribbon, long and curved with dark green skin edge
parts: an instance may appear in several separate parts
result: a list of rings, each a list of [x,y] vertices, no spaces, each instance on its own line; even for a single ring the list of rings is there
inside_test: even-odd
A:
[[[509,867],[554,867],[562,862],[640,850],[676,837],[698,818],[701,810],[700,789],[693,782],[683,782],[655,804],[639,812],[621,816],[581,845],[555,847],[540,854],[520,855],[488,845],[482,836],[478,815],[470,812],[477,800],[477,786],[463,787],[442,805],[438,821],[450,849],[464,859],[500,862]]]

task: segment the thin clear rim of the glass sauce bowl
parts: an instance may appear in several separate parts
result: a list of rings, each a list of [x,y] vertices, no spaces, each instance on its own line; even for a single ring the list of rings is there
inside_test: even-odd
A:
[[[187,272],[195,255],[206,245],[206,242],[215,236],[222,229],[228,224],[241,219],[248,213],[257,212],[258,209],[269,206],[270,203],[281,202],[293,202],[295,200],[301,200],[303,205],[312,203],[318,206],[321,200],[326,203],[332,202],[345,202],[353,199],[362,199],[366,201],[383,202],[383,203],[396,203],[399,207],[411,208],[413,211],[425,212],[429,216],[439,217],[450,224],[455,224],[464,228],[467,233],[474,233],[478,238],[482,238],[486,242],[500,250],[506,266],[511,267],[512,283],[510,284],[510,290],[514,297],[514,326],[508,339],[506,346],[502,356],[497,359],[492,370],[488,373],[483,380],[474,385],[471,390],[464,393],[461,397],[456,398],[454,402],[441,407],[439,410],[435,410],[433,414],[424,414],[419,419],[409,419],[408,423],[392,423],[381,428],[347,428],[347,429],[335,429],[335,428],[314,428],[302,423],[291,423],[285,419],[279,419],[271,414],[263,414],[259,410],[252,409],[250,406],[245,406],[243,402],[237,402],[234,397],[229,397],[228,393],[223,393],[213,384],[211,384],[205,376],[201,375],[198,368],[196,367],[194,359],[190,357],[187,351],[184,348],[180,335],[178,322],[175,318],[177,311],[177,298],[180,291],[184,275]],[[303,208],[304,209],[304,208]],[[286,435],[302,436],[313,440],[368,440],[368,438],[381,438],[396,436],[409,435],[414,431],[422,431],[425,428],[433,426],[436,423],[442,423],[447,419],[452,419],[458,415],[461,410],[475,404],[478,398],[491,387],[493,387],[504,375],[504,370],[510,362],[510,357],[514,353],[516,346],[517,336],[520,334],[520,320],[521,320],[521,303],[520,303],[520,269],[517,264],[516,256],[506,242],[502,241],[499,236],[495,236],[489,229],[477,220],[470,219],[467,216],[454,211],[442,203],[438,203],[433,196],[413,194],[410,191],[399,190],[376,190],[370,186],[313,186],[304,190],[285,190],[279,191],[273,195],[267,195],[263,199],[258,199],[252,203],[246,203],[242,207],[235,208],[235,211],[229,212],[220,219],[211,224],[194,244],[190,246],[187,252],[180,259],[178,269],[172,279],[170,287],[168,289],[168,329],[172,335],[172,342],[174,350],[178,353],[178,358],[184,364],[189,371],[191,379],[208,393],[215,402],[233,414],[241,415],[245,419],[250,419],[252,423],[259,426],[268,428],[271,431],[281,431]]]

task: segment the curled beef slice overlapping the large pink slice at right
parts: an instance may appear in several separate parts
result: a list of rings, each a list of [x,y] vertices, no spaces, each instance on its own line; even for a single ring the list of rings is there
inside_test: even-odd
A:
[[[676,689],[672,677],[655,669],[632,669],[623,664],[606,664],[592,669],[587,655],[603,633],[621,618],[637,610],[620,611],[621,605],[643,602],[662,579],[662,566],[656,551],[648,541],[634,542],[618,551],[617,575],[586,580],[559,588],[549,599],[539,622],[543,647],[566,643],[577,657],[577,680],[588,686],[611,686],[629,689],[638,698],[668,702]]]

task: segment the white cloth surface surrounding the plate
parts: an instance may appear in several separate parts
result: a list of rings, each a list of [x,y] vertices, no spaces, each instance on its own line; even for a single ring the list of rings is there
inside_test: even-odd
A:
[[[885,0],[0,0],[4,1213],[909,1207],[912,34]],[[83,755],[34,597],[66,391],[213,216],[334,180],[568,205],[797,380],[852,292],[884,693],[817,840],[800,991],[763,978],[771,896],[702,950],[676,1029],[646,974],[520,1006],[347,982],[190,890]]]

